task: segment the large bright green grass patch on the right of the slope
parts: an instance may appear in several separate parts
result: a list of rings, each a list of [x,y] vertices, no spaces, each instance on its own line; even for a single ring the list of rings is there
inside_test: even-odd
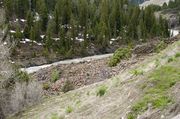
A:
[[[180,60],[172,60],[170,64],[162,66],[148,76],[143,84],[143,96],[137,101],[128,114],[128,119],[136,119],[138,114],[151,108],[164,109],[173,100],[168,95],[169,89],[180,81]]]

